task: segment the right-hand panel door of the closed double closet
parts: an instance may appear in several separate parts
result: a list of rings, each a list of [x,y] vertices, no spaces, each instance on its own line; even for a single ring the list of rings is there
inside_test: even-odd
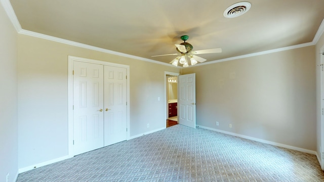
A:
[[[104,66],[104,146],[127,140],[127,70]]]

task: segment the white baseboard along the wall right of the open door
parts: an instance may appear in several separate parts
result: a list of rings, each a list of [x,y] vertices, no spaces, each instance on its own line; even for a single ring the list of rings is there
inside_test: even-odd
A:
[[[215,129],[215,128],[211,128],[211,127],[206,127],[206,126],[200,126],[197,125],[200,128],[204,128],[204,129],[209,129],[209,130],[213,130],[213,131],[217,131],[217,132],[221,132],[221,133],[225,133],[225,134],[229,134],[229,135],[233,135],[233,136],[238,136],[240,138],[244,138],[244,139],[248,139],[248,140],[253,140],[256,142],[261,142],[264,144],[270,144],[273,146],[277,146],[277,147],[283,147],[286,149],[292,149],[295,151],[299,151],[299,152],[304,152],[304,153],[308,153],[308,154],[313,154],[316,155],[316,151],[312,151],[312,150],[307,150],[307,149],[303,149],[303,148],[298,148],[298,147],[294,147],[294,146],[289,146],[289,145],[285,145],[285,144],[279,144],[279,143],[275,143],[275,142],[270,142],[270,141],[266,141],[266,140],[262,140],[262,139],[257,139],[251,136],[247,136],[247,135],[242,135],[242,134],[237,134],[237,133],[233,133],[233,132],[228,132],[228,131],[224,131],[224,130],[219,130],[219,129]]]

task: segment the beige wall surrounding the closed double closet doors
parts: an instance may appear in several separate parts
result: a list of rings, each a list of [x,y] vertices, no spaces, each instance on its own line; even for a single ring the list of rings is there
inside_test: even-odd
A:
[[[179,68],[22,34],[18,43],[19,168],[68,154],[68,55],[130,65],[131,136],[165,127],[165,71]]]

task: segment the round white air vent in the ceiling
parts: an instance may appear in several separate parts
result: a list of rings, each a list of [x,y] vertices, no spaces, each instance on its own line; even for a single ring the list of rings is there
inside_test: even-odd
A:
[[[251,3],[249,2],[240,2],[228,7],[224,11],[224,17],[226,18],[235,18],[247,13],[251,8]]]

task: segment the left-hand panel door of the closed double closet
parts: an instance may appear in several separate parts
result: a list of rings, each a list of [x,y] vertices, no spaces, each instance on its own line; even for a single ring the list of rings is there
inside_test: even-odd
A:
[[[74,155],[103,147],[103,65],[73,62]]]

